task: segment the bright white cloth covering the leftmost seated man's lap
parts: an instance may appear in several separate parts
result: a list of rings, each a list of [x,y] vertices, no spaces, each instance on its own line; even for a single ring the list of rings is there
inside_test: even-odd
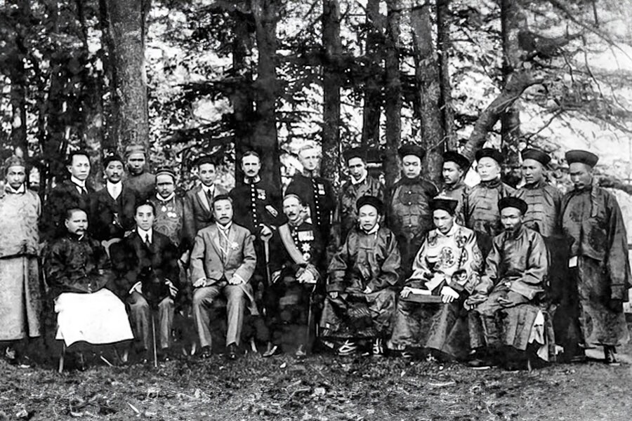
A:
[[[57,335],[67,347],[85,341],[111,344],[134,338],[124,303],[110,290],[96,293],[62,293],[55,300]]]

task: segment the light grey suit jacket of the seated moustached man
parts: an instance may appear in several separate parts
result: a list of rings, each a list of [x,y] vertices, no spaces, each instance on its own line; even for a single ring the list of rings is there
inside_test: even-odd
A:
[[[228,281],[237,274],[247,283],[257,263],[254,236],[248,229],[233,222],[228,232],[228,258],[220,250],[219,236],[215,224],[200,229],[195,236],[195,246],[191,252],[191,282],[206,278],[206,286],[211,286],[223,277]]]

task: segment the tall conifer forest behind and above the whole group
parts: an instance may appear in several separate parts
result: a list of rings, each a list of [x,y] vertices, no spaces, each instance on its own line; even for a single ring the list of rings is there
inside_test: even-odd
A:
[[[0,154],[28,156],[45,195],[77,147],[97,187],[131,143],[183,185],[217,154],[228,187],[251,148],[287,183],[305,141],[336,182],[343,149],[378,149],[387,185],[403,142],[434,180],[445,149],[489,142],[513,185],[520,149],[562,180],[581,147],[629,192],[631,21],[632,0],[0,0]]]

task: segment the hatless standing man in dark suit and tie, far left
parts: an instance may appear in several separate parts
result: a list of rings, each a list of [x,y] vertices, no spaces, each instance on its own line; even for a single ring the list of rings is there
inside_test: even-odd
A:
[[[70,152],[66,160],[66,168],[70,173],[70,180],[56,185],[45,202],[44,215],[40,221],[40,232],[44,241],[51,241],[65,235],[64,220],[67,209],[79,208],[87,213],[90,208],[90,194],[94,192],[94,189],[86,185],[86,180],[90,175],[88,153]]]

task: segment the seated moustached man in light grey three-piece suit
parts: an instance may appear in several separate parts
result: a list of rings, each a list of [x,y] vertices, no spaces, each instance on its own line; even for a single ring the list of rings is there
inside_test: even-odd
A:
[[[212,207],[215,222],[197,232],[191,252],[193,320],[206,358],[211,353],[211,305],[223,295],[228,301],[228,358],[236,359],[246,304],[251,314],[258,314],[249,283],[257,262],[254,238],[248,229],[232,223],[230,196],[215,196]]]

